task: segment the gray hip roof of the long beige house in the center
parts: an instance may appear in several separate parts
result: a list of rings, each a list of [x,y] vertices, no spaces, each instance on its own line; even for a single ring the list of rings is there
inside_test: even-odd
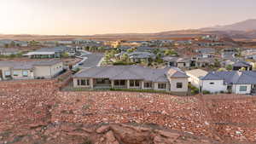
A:
[[[150,82],[168,82],[167,72],[173,68],[153,69],[143,66],[105,66],[92,67],[74,75],[74,78],[109,78],[114,79],[137,79]],[[182,71],[175,69],[172,77],[187,77]]]

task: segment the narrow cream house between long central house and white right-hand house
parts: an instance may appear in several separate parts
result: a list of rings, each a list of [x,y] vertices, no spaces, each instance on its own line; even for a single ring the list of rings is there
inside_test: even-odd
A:
[[[207,73],[208,72],[201,69],[195,69],[186,72],[186,74],[189,76],[189,83],[200,90],[202,85],[201,78],[204,78],[207,75]]]

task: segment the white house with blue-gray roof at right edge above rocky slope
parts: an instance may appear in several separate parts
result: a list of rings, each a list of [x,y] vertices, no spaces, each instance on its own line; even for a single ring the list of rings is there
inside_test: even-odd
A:
[[[201,89],[211,93],[251,94],[256,88],[256,72],[209,72],[201,81]]]

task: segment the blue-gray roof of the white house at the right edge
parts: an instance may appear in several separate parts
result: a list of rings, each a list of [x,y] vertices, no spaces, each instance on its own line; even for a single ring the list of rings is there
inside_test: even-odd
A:
[[[202,80],[224,80],[224,84],[256,84],[256,72],[209,72]]]

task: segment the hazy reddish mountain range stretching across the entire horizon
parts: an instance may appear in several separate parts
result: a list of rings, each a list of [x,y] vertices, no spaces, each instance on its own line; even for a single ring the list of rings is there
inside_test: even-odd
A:
[[[229,37],[235,40],[256,40],[256,19],[243,20],[231,25],[212,26],[200,29],[189,29],[155,33],[113,33],[97,34],[92,36],[42,36],[42,35],[1,35],[0,38],[12,38],[20,40],[56,40],[56,39],[98,39],[98,40],[148,40],[148,39],[175,39],[182,37],[200,37],[209,34],[221,37]]]

